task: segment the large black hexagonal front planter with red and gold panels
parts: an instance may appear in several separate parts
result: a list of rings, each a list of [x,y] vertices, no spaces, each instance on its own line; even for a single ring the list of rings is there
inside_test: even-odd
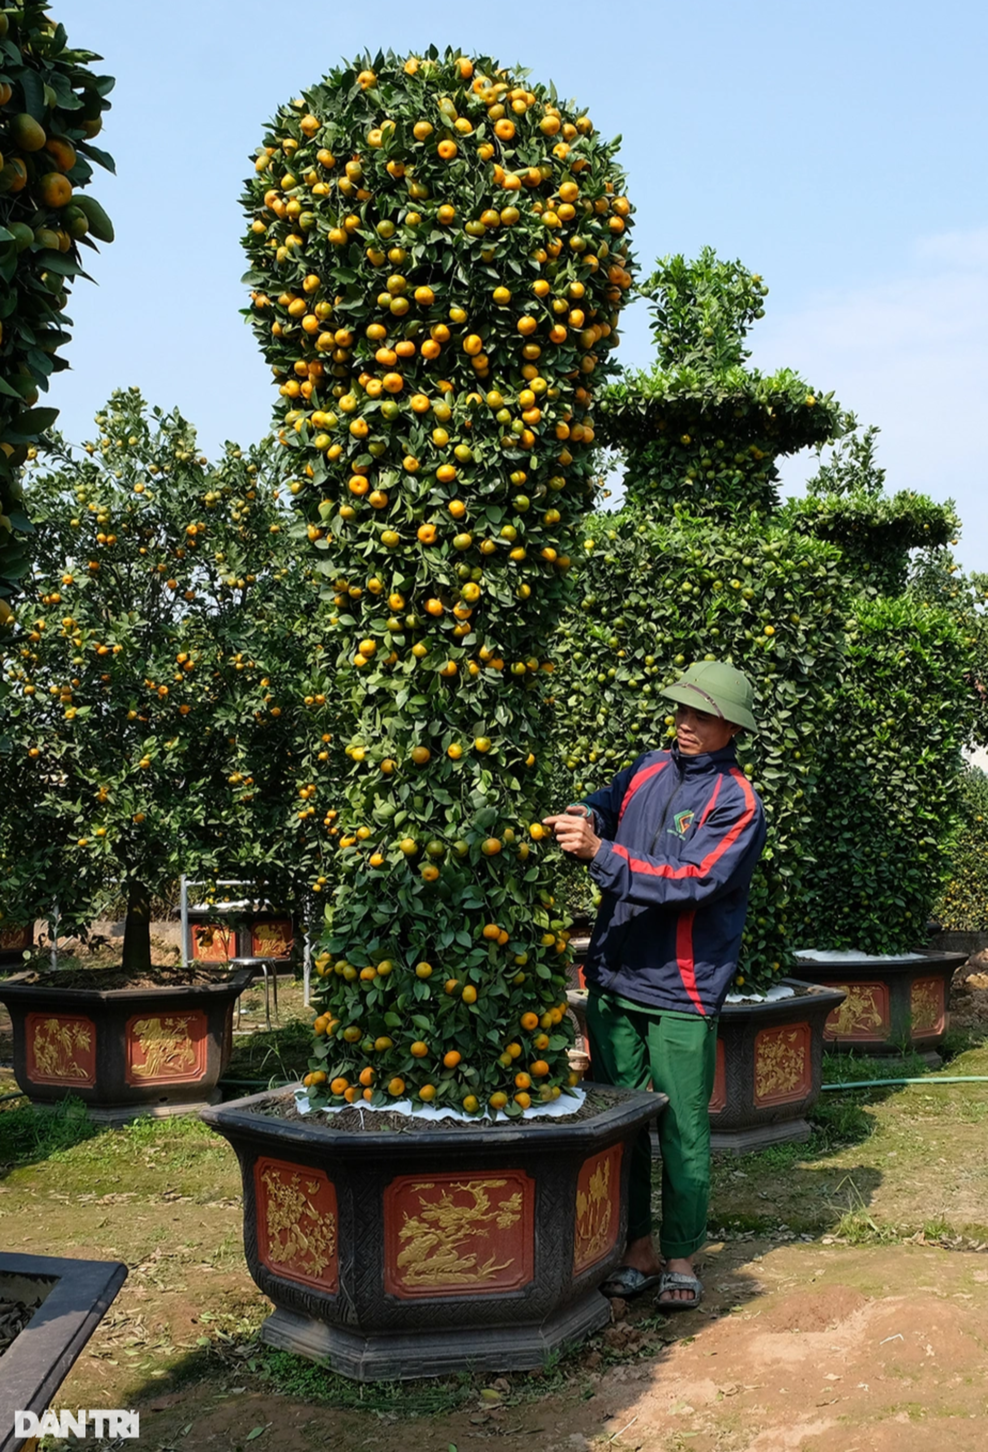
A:
[[[275,1302],[262,1339],[373,1381],[539,1366],[606,1324],[629,1150],[665,1101],[600,1093],[581,1119],[401,1131],[279,1118],[291,1090],[206,1109],[240,1159],[247,1263]]]

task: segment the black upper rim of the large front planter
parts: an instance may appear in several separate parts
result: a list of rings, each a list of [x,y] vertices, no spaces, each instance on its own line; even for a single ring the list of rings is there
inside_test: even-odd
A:
[[[215,1108],[201,1109],[199,1118],[218,1134],[225,1134],[225,1130],[230,1128],[250,1138],[264,1141],[278,1138],[282,1144],[291,1144],[295,1149],[308,1150],[309,1153],[325,1150],[327,1147],[343,1150],[359,1144],[360,1153],[378,1150],[382,1154],[394,1154],[395,1150],[401,1149],[402,1157],[410,1154],[413,1157],[436,1159],[446,1150],[466,1149],[478,1137],[482,1137],[491,1149],[497,1146],[498,1150],[503,1147],[509,1151],[523,1144],[532,1149],[533,1135],[538,1135],[538,1144],[546,1150],[577,1149],[584,1140],[588,1144],[596,1143],[602,1134],[613,1133],[618,1137],[625,1124],[633,1119],[645,1104],[654,1105],[657,1117],[665,1108],[667,1102],[665,1095],[639,1089],[620,1089],[620,1104],[602,1109],[600,1114],[591,1118],[577,1119],[570,1124],[555,1124],[552,1119],[546,1119],[538,1125],[522,1122],[522,1125],[516,1127],[494,1125],[490,1121],[478,1119],[475,1125],[468,1128],[430,1130],[423,1134],[395,1134],[394,1131],[384,1131],[381,1134],[362,1131],[360,1134],[355,1134],[352,1130],[328,1128],[325,1121],[320,1121],[320,1127],[317,1128],[315,1125],[309,1127],[307,1124],[279,1119],[276,1115],[257,1112],[262,1105],[270,1105],[276,1099],[286,1099],[298,1088],[301,1085],[288,1085],[283,1089],[264,1090],[263,1093],[248,1095],[244,1099],[231,1099]],[[588,1080],[584,1080],[580,1088],[587,1090],[606,1089],[609,1093],[615,1092],[613,1085],[596,1085]]]

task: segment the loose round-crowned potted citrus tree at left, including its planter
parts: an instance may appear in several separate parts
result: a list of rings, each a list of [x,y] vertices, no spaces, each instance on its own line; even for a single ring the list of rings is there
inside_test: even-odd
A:
[[[299,614],[305,600],[263,462],[228,446],[211,468],[137,391],[97,423],[81,457],[54,441],[32,481],[44,529],[3,671],[0,909],[70,932],[122,899],[122,954],[9,980],[3,999],[25,1092],[121,1119],[209,1102],[230,1054],[250,973],[153,966],[151,903],[182,871],[248,862],[264,880],[285,860],[273,815],[295,815],[296,764],[262,672],[288,649],[285,591]],[[262,742],[266,778],[247,783],[235,767]]]

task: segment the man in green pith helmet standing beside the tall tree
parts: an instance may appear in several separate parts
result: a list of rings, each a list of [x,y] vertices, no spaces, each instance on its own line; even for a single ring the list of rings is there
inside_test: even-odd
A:
[[[734,746],[738,732],[757,730],[748,678],[700,661],[663,694],[676,701],[673,746],[645,752],[546,826],[590,864],[603,897],[584,966],[593,1076],[668,1095],[658,1119],[660,1250],[642,1131],[625,1259],[603,1289],[632,1297],[657,1285],[658,1308],[680,1311],[703,1295],[693,1256],[706,1240],[716,1021],[737,971],[766,826]]]

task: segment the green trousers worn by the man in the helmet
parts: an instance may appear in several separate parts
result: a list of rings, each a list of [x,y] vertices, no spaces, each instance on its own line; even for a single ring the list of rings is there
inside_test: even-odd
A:
[[[710,1198],[710,1118],[716,1019],[663,1013],[590,990],[587,1032],[597,1083],[652,1089],[668,1096],[658,1117],[663,1150],[665,1259],[692,1256],[706,1240]],[[631,1156],[628,1240],[652,1230],[652,1151],[642,1130]]]

